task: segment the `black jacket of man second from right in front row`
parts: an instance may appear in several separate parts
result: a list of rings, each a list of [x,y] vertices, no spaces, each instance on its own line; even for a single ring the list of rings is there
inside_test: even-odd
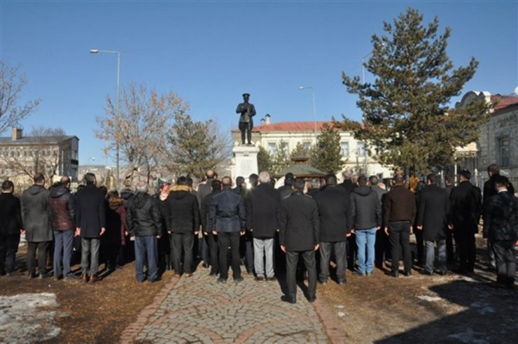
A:
[[[480,189],[467,180],[451,189],[449,213],[454,231],[478,233],[478,222],[482,214]]]

